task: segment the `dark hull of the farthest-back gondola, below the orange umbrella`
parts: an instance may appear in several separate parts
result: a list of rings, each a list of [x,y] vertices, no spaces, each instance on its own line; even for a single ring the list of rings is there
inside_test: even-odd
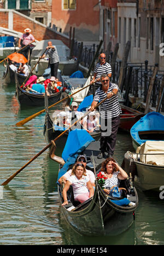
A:
[[[26,76],[17,73],[17,81],[20,85],[24,83],[26,78]],[[15,85],[15,71],[10,68],[9,64],[5,66],[5,71],[2,79],[4,80],[4,84],[6,85]]]

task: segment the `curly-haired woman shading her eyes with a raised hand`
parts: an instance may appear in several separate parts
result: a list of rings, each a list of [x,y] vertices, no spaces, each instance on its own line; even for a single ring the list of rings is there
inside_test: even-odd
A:
[[[126,180],[128,175],[114,158],[107,158],[101,165],[101,173],[107,177],[105,188],[103,189],[106,194],[109,194],[113,186],[119,186],[121,180]]]

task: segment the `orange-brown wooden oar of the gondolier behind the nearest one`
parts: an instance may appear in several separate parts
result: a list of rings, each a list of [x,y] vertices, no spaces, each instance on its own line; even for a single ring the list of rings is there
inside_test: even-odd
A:
[[[83,90],[83,89],[85,89],[86,87],[88,87],[88,86],[94,84],[95,82],[96,82],[96,81],[92,82],[92,83],[89,84],[89,85],[86,85],[85,87],[81,88],[81,89],[78,90],[77,92],[74,92],[74,93],[72,93],[71,95],[69,95],[69,96],[67,96],[67,97],[65,97],[65,98],[63,98],[63,99],[61,99],[60,101],[58,101],[58,102],[56,102],[56,103],[50,105],[48,108],[54,107],[54,106],[57,105],[58,103],[61,103],[62,101],[65,101],[65,99],[68,99],[69,97],[72,97],[75,93],[80,92],[81,90]],[[28,121],[32,120],[33,118],[36,118],[36,116],[38,116],[38,115],[40,115],[40,114],[42,114],[42,113],[44,113],[44,112],[45,112],[45,109],[40,110],[39,112],[37,112],[37,113],[35,113],[35,114],[31,115],[31,116],[28,116],[28,118],[25,118],[24,120],[19,121],[18,123],[16,123],[16,126],[22,126],[22,125],[26,124]]]

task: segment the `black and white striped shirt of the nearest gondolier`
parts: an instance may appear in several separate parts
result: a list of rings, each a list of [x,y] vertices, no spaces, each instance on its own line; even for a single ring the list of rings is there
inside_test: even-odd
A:
[[[109,92],[112,92],[113,89],[115,89],[115,88],[119,89],[118,85],[109,83],[108,92],[106,93],[102,90],[102,87],[100,86],[95,92],[93,101],[96,101],[96,102],[103,101],[103,99],[107,97],[107,94]],[[118,93],[115,96],[112,96],[112,98],[106,99],[106,101],[104,101],[99,106],[99,108],[101,110],[102,118],[107,118],[107,114],[108,114],[108,118],[111,118],[111,117],[115,118],[116,116],[120,115],[120,113],[122,113],[122,111],[121,111],[121,107],[119,104]]]

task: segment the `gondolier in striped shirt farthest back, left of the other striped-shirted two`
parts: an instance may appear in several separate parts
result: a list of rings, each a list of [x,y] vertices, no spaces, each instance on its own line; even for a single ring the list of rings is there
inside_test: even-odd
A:
[[[56,78],[59,58],[58,58],[56,46],[53,46],[51,41],[48,42],[48,47],[46,47],[46,51],[43,54],[43,56],[40,57],[40,59],[45,58],[46,55],[49,55],[49,59],[50,59],[51,76],[55,76]]]

